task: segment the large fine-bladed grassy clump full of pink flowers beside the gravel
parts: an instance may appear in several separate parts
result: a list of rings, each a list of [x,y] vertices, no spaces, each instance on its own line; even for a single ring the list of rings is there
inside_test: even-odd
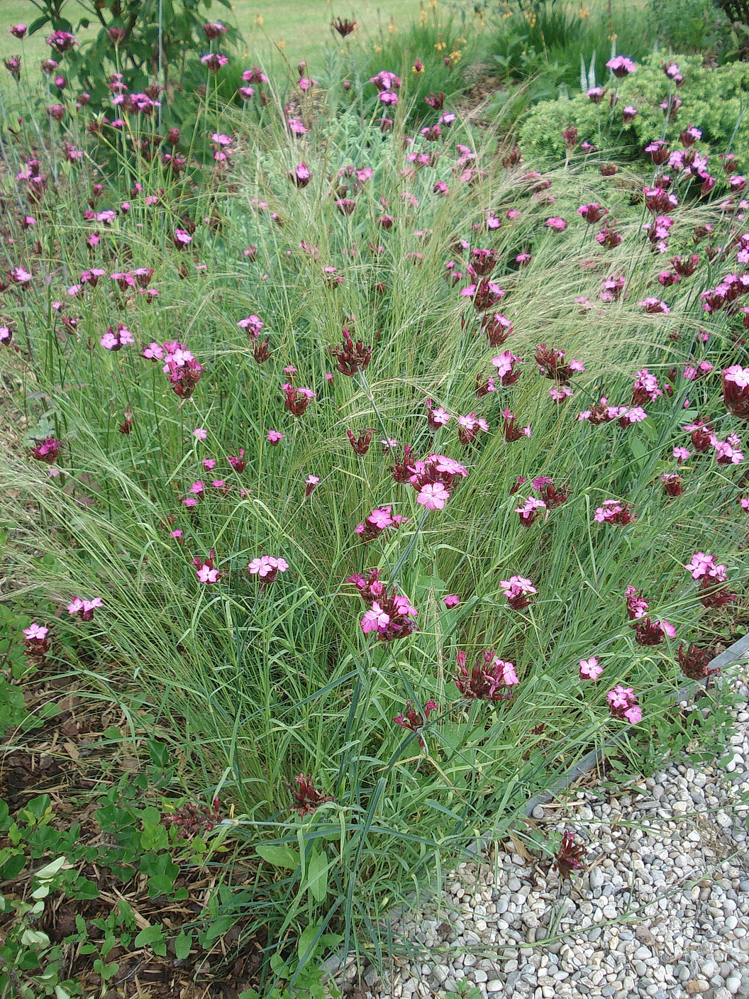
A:
[[[293,983],[380,956],[612,731],[689,739],[743,577],[743,285],[699,242],[733,209],[412,127],[378,69],[240,114],[209,86],[177,148],[72,103],[3,147],[26,645],[141,691]]]

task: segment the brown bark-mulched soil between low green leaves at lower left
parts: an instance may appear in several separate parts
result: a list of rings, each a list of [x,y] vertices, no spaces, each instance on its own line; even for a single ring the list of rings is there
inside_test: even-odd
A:
[[[56,680],[37,674],[24,684],[24,695],[31,712],[50,701],[56,702],[60,711],[24,736],[22,747],[18,733],[9,733],[0,746],[0,797],[15,815],[31,798],[48,794],[55,814],[54,827],[65,830],[80,823],[79,846],[101,848],[106,839],[94,818],[98,798],[121,779],[123,772],[135,775],[145,765],[138,740],[135,745],[123,741],[102,746],[102,733],[106,729],[111,733],[112,726],[120,728],[123,735],[129,734],[127,719],[116,704],[92,698],[85,689],[76,689],[69,678]],[[142,804],[157,803],[147,800],[149,793],[143,792]],[[0,838],[0,848],[8,842]],[[49,859],[52,857],[32,861],[16,878],[3,884],[3,894],[11,899],[26,897],[31,890],[28,867],[41,866]],[[49,934],[53,943],[76,933],[77,915],[87,922],[106,919],[123,900],[132,907],[139,929],[161,923],[170,935],[176,935],[183,926],[200,927],[206,902],[221,874],[224,882],[234,884],[251,882],[253,878],[253,872],[240,866],[235,866],[228,878],[228,865],[183,864],[176,886],[185,888],[187,897],[175,901],[149,897],[147,878],[142,875],[123,881],[107,868],[83,861],[77,870],[97,883],[99,897],[70,900],[63,892],[52,894],[39,928]],[[11,918],[0,916],[0,943]],[[92,942],[103,936],[90,923],[89,932]],[[239,919],[211,952],[194,944],[185,960],[176,958],[171,945],[165,957],[154,954],[150,947],[116,946],[107,960],[117,961],[120,967],[106,990],[92,967],[98,955],[81,954],[77,944],[63,943],[62,974],[80,982],[84,994],[103,995],[105,999],[237,999],[243,989],[258,984],[266,942],[262,929],[251,932],[247,921]]]

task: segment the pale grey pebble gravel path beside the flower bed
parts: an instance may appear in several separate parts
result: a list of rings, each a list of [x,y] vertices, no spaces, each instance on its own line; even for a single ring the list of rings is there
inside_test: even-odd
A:
[[[386,981],[370,968],[356,986],[352,963],[344,992],[747,999],[749,677],[732,672],[733,754],[700,770],[674,764],[629,793],[577,791],[535,809],[542,831],[572,829],[587,844],[587,871],[570,889],[560,892],[548,864],[516,854],[460,864],[439,909],[398,927],[396,939],[419,956],[393,958]]]

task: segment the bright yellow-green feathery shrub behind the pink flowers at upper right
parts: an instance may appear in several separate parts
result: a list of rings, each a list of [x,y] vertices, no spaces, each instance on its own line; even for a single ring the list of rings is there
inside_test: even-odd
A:
[[[532,108],[520,127],[523,152],[563,157],[561,133],[570,125],[577,129],[580,142],[591,142],[600,150],[610,147],[619,152],[634,152],[660,138],[678,142],[683,129],[696,125],[702,129],[702,143],[716,153],[726,151],[729,145],[739,155],[749,152],[749,122],[742,114],[743,94],[749,86],[749,65],[735,63],[709,69],[696,56],[674,56],[684,75],[679,88],[683,104],[674,120],[664,125],[659,105],[668,97],[669,81],[661,68],[663,58],[653,54],[638,66],[635,74],[619,82],[619,101],[613,112],[609,111],[605,98],[596,105],[585,94]],[[620,109],[626,105],[637,108],[637,116],[628,126],[621,121]]]

